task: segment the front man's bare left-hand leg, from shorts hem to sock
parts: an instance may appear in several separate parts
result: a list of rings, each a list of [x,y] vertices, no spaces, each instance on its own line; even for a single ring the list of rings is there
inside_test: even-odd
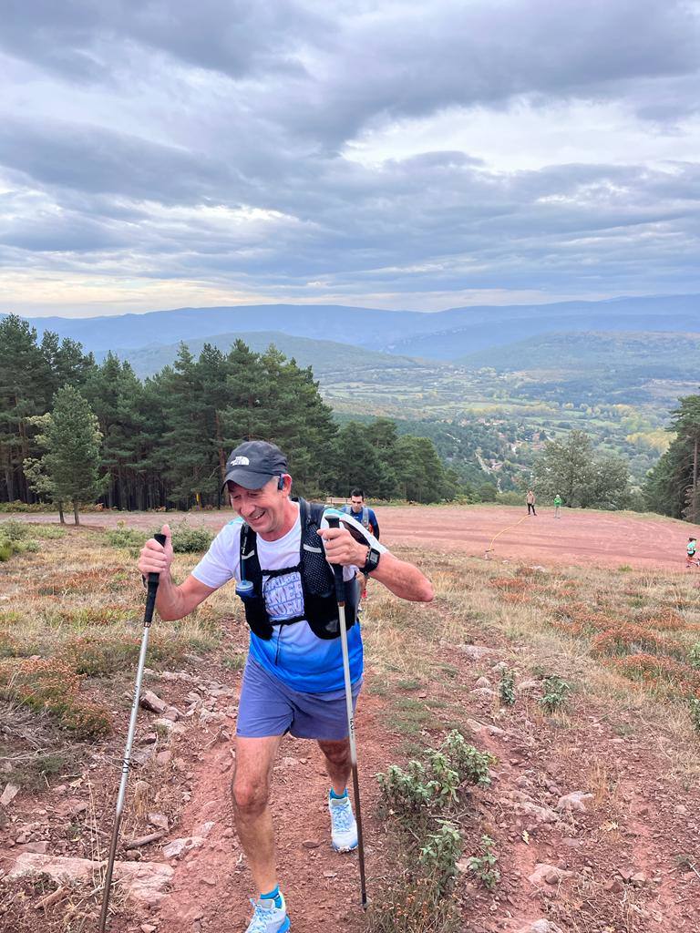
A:
[[[263,739],[236,736],[236,769],[231,781],[238,838],[260,894],[277,885],[273,818],[268,807],[274,758],[281,735]]]

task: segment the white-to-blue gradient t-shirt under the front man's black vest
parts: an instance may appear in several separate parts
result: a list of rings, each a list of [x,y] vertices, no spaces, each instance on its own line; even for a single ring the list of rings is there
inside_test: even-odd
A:
[[[235,519],[224,525],[192,576],[205,586],[218,589],[229,580],[241,579],[241,528],[243,521]],[[301,521],[299,516],[287,535],[277,541],[265,541],[257,536],[256,549],[262,574],[265,606],[273,622],[273,637],[269,641],[250,633],[250,653],[266,671],[289,687],[304,693],[328,693],[341,690],[343,654],[341,639],[318,638],[308,622],[275,625],[274,620],[293,619],[303,612],[301,574],[293,571],[281,577],[267,577],[265,570],[281,570],[299,564]],[[386,550],[374,545],[377,550]],[[346,580],[355,577],[355,567],[344,567]],[[350,679],[355,683],[362,676],[362,638],[359,622],[348,630]]]

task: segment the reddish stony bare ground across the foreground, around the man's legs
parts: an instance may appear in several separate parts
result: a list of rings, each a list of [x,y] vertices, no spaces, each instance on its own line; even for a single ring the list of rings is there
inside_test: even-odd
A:
[[[541,684],[531,677],[520,679],[518,701],[504,715],[494,686],[500,666],[511,663],[513,651],[517,657],[517,646],[443,651],[458,674],[431,685],[431,696],[443,694],[447,706],[458,693],[463,731],[498,759],[493,786],[471,797],[471,822],[476,833],[496,840],[501,879],[490,893],[463,860],[456,896],[464,906],[465,933],[700,930],[700,795],[697,787],[668,776],[664,737],[631,720],[625,725],[623,712],[610,716],[609,709],[581,697],[566,722],[542,717],[534,703]],[[201,671],[166,672],[151,678],[158,692],[142,697],[114,931],[245,928],[252,892],[228,799],[240,674],[221,674],[212,679]],[[397,759],[399,736],[383,726],[382,699],[371,691],[371,675],[369,681],[358,745],[370,892],[382,898],[388,837],[375,816],[372,775]],[[85,883],[99,884],[90,856],[105,854],[119,776],[114,764],[95,760],[87,773],[35,797],[13,798],[5,787],[0,928],[36,933],[71,905],[77,905],[73,925],[63,928],[93,927]],[[327,780],[315,747],[289,739],[274,784],[293,928],[363,929],[357,859],[329,848]],[[79,843],[66,838],[66,822],[80,829]]]

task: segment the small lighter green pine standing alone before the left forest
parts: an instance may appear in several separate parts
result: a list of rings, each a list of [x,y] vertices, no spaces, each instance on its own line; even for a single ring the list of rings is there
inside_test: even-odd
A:
[[[75,522],[79,524],[78,504],[93,501],[102,488],[102,434],[87,400],[72,385],[64,385],[56,393],[43,438],[47,447],[44,467],[53,495],[73,503]]]

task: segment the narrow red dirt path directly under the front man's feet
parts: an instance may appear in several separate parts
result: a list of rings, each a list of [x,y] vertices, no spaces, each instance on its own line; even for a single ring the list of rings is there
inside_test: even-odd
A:
[[[395,740],[381,729],[376,698],[365,694],[358,709],[359,773],[369,840],[367,866],[370,873],[376,873],[377,848],[372,841],[377,839],[379,828],[374,816],[377,784],[373,775],[391,759],[390,745]],[[205,731],[180,739],[174,754],[184,757],[191,769],[193,793],[171,836],[205,834],[205,838],[200,847],[171,861],[175,879],[158,914],[161,929],[167,933],[243,930],[251,913],[247,898],[254,890],[245,856],[231,829],[231,742],[217,742],[216,730],[213,734]],[[361,926],[357,855],[342,855],[330,848],[328,788],[315,743],[287,737],[274,767],[272,809],[280,885],[298,933],[350,931]],[[211,829],[209,824],[213,824]],[[113,928],[127,931],[133,925],[121,918]]]

